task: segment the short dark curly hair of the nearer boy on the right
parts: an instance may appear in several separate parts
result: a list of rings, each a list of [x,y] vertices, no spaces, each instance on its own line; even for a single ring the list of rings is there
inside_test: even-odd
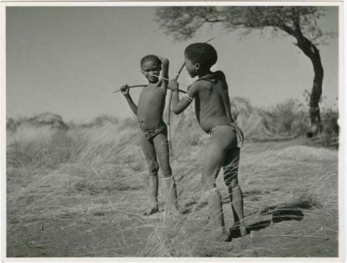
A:
[[[210,68],[217,62],[217,51],[208,43],[194,43],[185,48],[185,56],[193,63]]]

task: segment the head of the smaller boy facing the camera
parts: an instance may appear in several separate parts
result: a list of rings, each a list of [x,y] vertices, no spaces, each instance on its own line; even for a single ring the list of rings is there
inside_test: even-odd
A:
[[[158,82],[158,76],[160,71],[162,70],[162,61],[156,55],[146,55],[142,57],[141,62],[139,62],[141,66],[142,74],[144,77],[149,80],[151,83]],[[155,77],[157,76],[157,77]]]

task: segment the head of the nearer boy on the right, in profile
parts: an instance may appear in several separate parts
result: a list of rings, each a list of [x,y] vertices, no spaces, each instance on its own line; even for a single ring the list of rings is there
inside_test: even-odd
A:
[[[191,77],[199,71],[210,70],[217,62],[217,51],[207,43],[194,43],[185,48],[186,68]]]

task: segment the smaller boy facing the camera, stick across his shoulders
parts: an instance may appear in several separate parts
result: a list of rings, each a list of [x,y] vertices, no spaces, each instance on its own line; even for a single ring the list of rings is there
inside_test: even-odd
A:
[[[167,125],[162,119],[167,95],[167,80],[158,78],[160,71],[162,71],[162,78],[169,78],[169,60],[155,55],[146,55],[142,58],[140,66],[149,84],[142,89],[138,105],[136,106],[130,97],[127,84],[121,87],[121,93],[126,98],[130,109],[137,116],[142,131],[140,138],[142,151],[149,167],[149,208],[144,212],[144,215],[158,212],[159,167],[164,175],[168,192],[167,208],[178,214],[176,183],[169,163]]]

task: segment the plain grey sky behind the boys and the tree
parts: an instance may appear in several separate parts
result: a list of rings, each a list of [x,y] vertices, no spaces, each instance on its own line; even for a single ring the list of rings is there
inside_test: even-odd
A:
[[[312,64],[293,37],[275,37],[269,30],[241,37],[215,25],[204,26],[193,39],[174,42],[154,17],[154,7],[8,7],[6,116],[49,111],[74,122],[101,114],[131,117],[121,93],[112,91],[124,83],[146,84],[139,73],[144,55],[167,57],[173,77],[185,47],[212,37],[219,56],[212,70],[226,74],[230,96],[271,107],[287,98],[303,100],[305,89],[312,88]],[[321,24],[337,33],[337,8],[330,8]],[[338,38],[328,39],[319,50],[324,103],[337,107]],[[178,81],[194,82],[185,70]],[[130,91],[136,103],[141,89]]]

